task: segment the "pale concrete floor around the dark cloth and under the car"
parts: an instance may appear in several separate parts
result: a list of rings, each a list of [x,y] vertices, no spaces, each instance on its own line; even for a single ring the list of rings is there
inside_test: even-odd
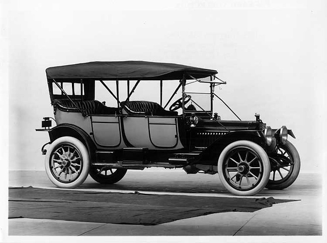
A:
[[[154,226],[73,222],[48,219],[9,219],[9,235],[322,235],[320,174],[302,173],[287,189],[263,190],[257,197],[300,199],[256,212],[226,212]],[[43,171],[11,171],[9,186],[55,188]],[[115,185],[92,178],[76,190],[119,191],[193,196],[232,196],[218,175],[187,175],[182,170],[128,171]],[[316,238],[316,240],[318,240]]]

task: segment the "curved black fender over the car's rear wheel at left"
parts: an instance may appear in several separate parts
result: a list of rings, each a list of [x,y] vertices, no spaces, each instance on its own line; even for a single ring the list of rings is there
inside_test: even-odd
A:
[[[70,136],[73,138],[78,139],[80,142],[82,142],[88,149],[89,155],[90,155],[90,161],[95,161],[95,152],[96,152],[96,146],[93,143],[90,136],[83,130],[78,128],[77,126],[70,125],[70,124],[60,124],[51,130],[48,131],[50,142],[52,143],[58,138],[64,137],[64,136]]]

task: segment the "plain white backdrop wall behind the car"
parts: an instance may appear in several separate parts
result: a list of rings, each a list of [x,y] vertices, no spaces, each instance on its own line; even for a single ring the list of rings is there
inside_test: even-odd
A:
[[[242,119],[259,112],[272,128],[292,129],[302,171],[319,172],[325,153],[323,2],[154,2],[3,2],[9,169],[43,170],[40,148],[48,135],[34,129],[52,115],[47,67],[145,60],[217,69],[227,85],[216,93]],[[157,90],[144,91],[157,99]],[[233,118],[219,101],[215,105],[222,118]]]

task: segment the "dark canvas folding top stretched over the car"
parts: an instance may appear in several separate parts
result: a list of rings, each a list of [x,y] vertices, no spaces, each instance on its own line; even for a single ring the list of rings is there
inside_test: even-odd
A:
[[[195,78],[217,73],[216,70],[211,69],[145,61],[88,62],[46,69],[48,79],[175,80],[181,79],[184,72],[190,73]]]

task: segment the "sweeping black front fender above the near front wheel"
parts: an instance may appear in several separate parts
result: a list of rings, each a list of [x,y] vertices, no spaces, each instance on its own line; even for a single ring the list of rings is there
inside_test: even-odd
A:
[[[224,148],[226,148],[227,145],[239,140],[252,141],[263,148],[265,147],[266,143],[265,135],[262,131],[230,132],[218,138],[207,149],[205,149],[201,153],[201,158],[196,161],[195,164],[202,162],[202,164],[217,165],[218,158]]]

